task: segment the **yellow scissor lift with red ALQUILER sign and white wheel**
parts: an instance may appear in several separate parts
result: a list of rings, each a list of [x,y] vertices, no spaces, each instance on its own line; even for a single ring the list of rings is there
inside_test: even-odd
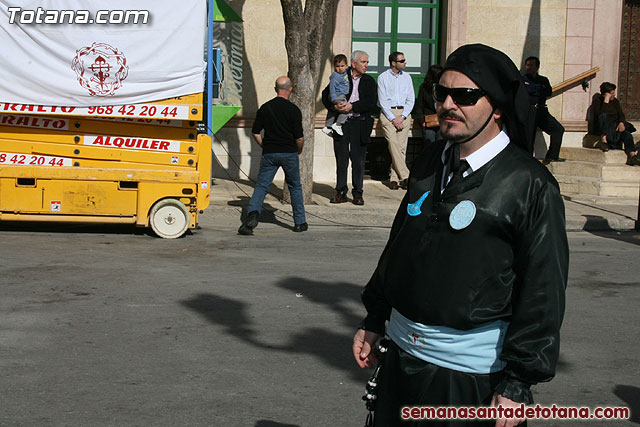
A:
[[[130,223],[163,238],[209,206],[203,94],[90,108],[0,104],[0,221]]]

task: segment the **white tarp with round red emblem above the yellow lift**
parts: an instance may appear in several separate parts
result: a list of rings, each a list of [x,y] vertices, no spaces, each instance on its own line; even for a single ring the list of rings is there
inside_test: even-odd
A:
[[[0,0],[0,102],[88,107],[202,92],[206,3]]]

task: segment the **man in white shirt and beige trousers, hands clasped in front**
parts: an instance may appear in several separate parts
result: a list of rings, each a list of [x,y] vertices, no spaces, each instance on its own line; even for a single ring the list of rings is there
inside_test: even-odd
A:
[[[411,129],[411,110],[415,103],[413,82],[402,52],[389,55],[390,68],[378,77],[378,105],[380,124],[391,153],[391,179],[389,187],[406,188],[409,168],[406,164],[407,141]]]

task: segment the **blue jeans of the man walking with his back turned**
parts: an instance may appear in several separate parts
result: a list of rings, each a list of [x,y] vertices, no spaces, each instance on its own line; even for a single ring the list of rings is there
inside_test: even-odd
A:
[[[247,212],[262,212],[262,203],[269,193],[273,177],[276,176],[278,168],[284,170],[284,180],[291,193],[291,206],[293,206],[293,220],[296,224],[307,222],[304,215],[304,200],[302,198],[302,184],[300,183],[300,164],[298,163],[298,153],[268,153],[263,154],[260,159],[260,171],[258,172],[258,182],[253,190],[251,201]]]

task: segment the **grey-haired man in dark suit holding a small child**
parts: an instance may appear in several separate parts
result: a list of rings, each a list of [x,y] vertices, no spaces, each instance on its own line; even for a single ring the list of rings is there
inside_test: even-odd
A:
[[[354,205],[364,205],[362,197],[364,185],[364,161],[367,157],[367,144],[373,129],[371,111],[377,104],[377,86],[373,77],[366,74],[369,55],[356,50],[351,55],[349,76],[349,94],[347,101],[334,105],[329,97],[328,87],[322,92],[322,103],[328,110],[347,114],[349,118],[342,126],[342,136],[333,135],[333,151],[336,156],[336,194],[331,203],[347,202],[347,169],[351,160],[351,183]]]

